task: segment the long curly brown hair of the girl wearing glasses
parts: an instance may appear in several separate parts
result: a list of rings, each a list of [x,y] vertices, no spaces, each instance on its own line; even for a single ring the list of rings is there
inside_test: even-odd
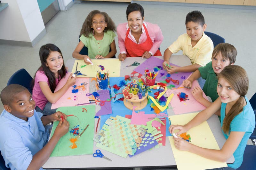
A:
[[[104,32],[107,32],[108,30],[111,30],[113,32],[116,31],[116,25],[114,21],[108,16],[106,12],[100,12],[99,10],[91,11],[88,16],[85,18],[82,29],[80,31],[80,36],[84,35],[85,37],[90,37],[90,33],[93,32],[92,26],[92,18],[96,14],[101,14],[105,18],[105,22],[108,24],[106,28],[104,28]]]

